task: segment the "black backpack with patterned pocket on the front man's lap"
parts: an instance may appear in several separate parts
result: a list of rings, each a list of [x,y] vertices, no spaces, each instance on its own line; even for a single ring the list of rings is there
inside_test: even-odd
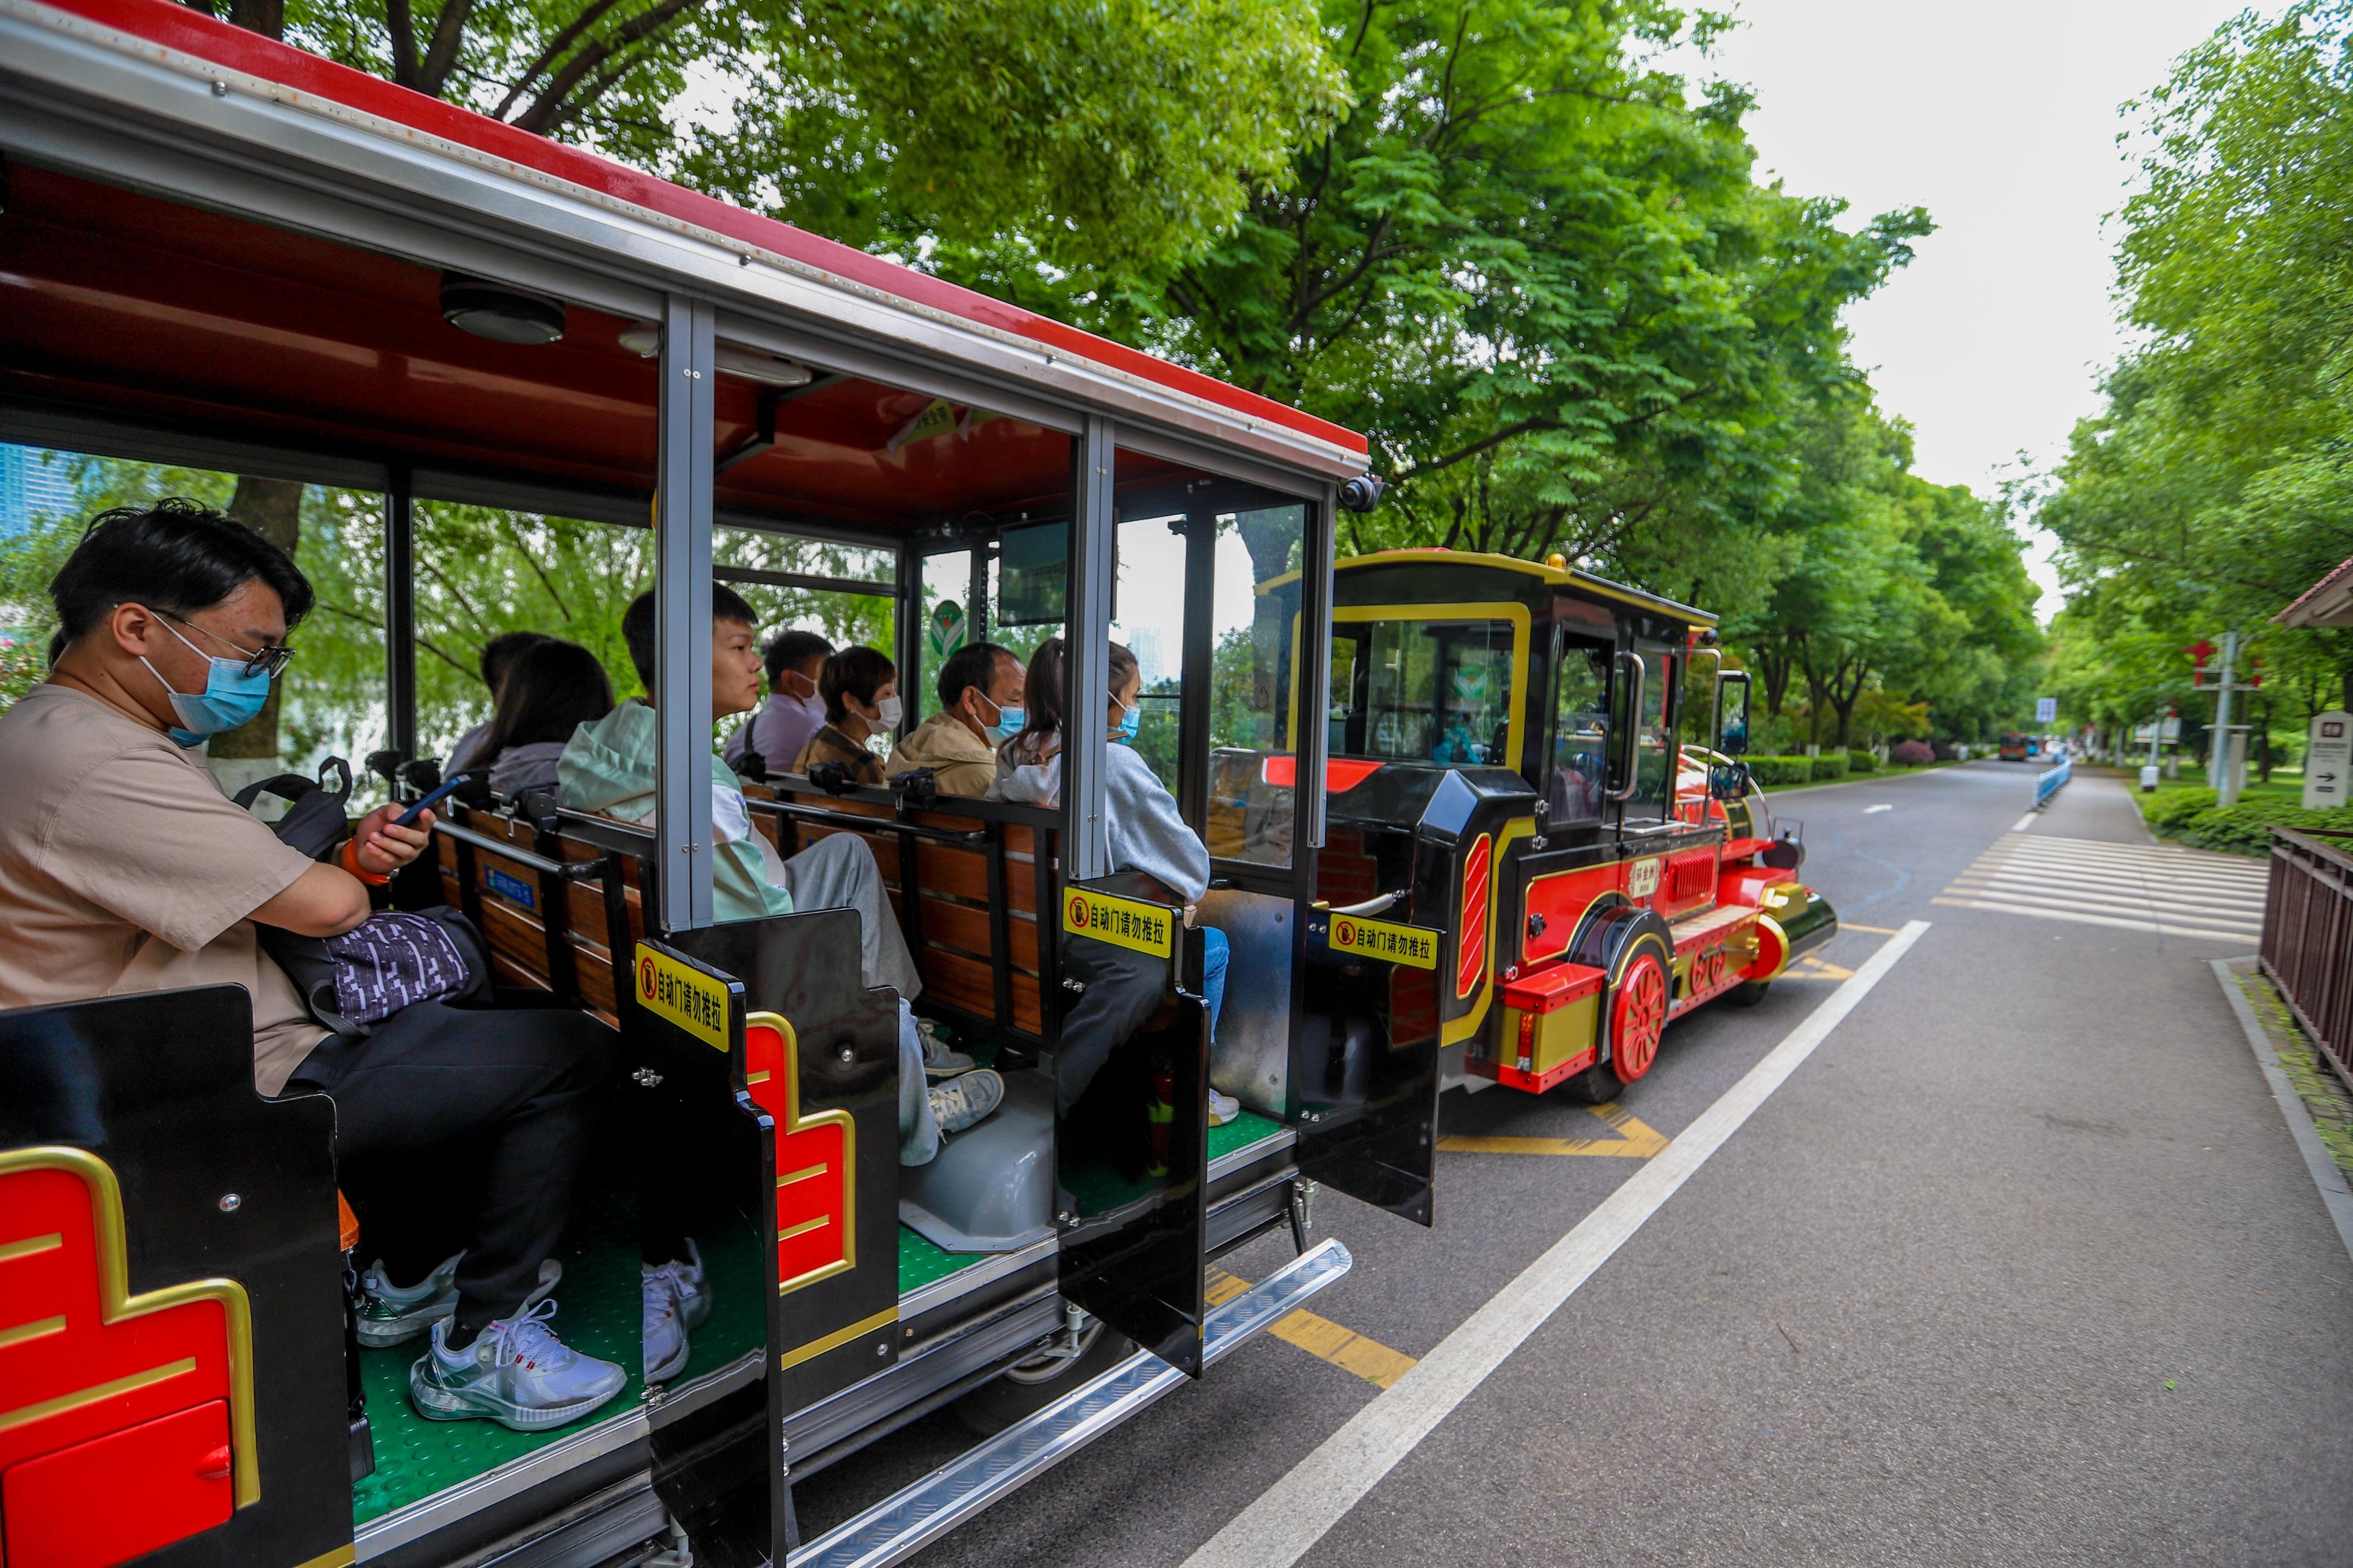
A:
[[[351,837],[344,813],[351,799],[351,764],[327,757],[318,778],[278,773],[238,790],[252,809],[264,795],[285,802],[273,832],[313,860],[332,860]],[[261,950],[278,961],[301,992],[304,1006],[344,1039],[362,1039],[374,1025],[416,1001],[471,1001],[489,994],[489,950],[482,933],[459,910],[386,910],[341,936],[299,936],[254,922]]]

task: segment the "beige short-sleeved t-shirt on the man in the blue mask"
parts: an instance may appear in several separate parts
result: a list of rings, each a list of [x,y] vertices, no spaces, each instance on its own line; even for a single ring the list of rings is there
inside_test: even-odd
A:
[[[311,867],[169,736],[71,686],[0,712],[0,1006],[186,985],[254,999],[273,1095],[327,1030],[247,919]]]

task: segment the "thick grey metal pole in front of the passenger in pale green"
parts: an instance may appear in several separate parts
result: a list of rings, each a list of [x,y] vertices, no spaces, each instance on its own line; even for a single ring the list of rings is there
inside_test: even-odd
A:
[[[711,470],[718,313],[661,303],[654,473],[654,860],[659,924],[713,924],[711,903]]]

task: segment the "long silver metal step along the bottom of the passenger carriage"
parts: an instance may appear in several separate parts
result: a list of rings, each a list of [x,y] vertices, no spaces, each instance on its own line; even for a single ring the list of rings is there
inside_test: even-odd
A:
[[[1318,1241],[1233,1300],[1212,1307],[1202,1363],[1282,1321],[1355,1260],[1339,1241]],[[1094,1382],[1071,1389],[1024,1422],[998,1432],[906,1490],[835,1526],[791,1554],[788,1568],[887,1568],[925,1549],[984,1507],[1042,1476],[1186,1378],[1139,1349]]]

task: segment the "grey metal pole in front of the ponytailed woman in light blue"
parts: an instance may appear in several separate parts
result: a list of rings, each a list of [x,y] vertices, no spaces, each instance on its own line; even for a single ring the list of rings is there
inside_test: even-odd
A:
[[[1104,825],[1104,710],[1111,705],[1111,585],[1120,527],[1111,421],[1089,414],[1071,475],[1071,597],[1064,607],[1061,865],[1064,882],[1111,875]],[[1042,914],[1042,910],[1040,910]]]

